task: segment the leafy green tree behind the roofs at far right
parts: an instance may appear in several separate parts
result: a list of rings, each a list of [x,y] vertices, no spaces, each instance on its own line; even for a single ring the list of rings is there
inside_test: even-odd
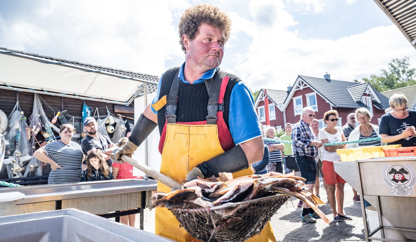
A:
[[[362,82],[369,82],[371,86],[378,91],[388,91],[405,86],[416,84],[416,69],[410,68],[409,57],[402,59],[392,59],[389,63],[389,69],[381,69],[380,75],[371,75],[369,78],[363,78]],[[354,80],[358,82],[357,80]]]

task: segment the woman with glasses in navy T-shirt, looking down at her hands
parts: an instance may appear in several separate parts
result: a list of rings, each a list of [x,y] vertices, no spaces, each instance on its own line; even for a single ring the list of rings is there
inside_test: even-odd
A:
[[[416,111],[407,109],[407,98],[394,94],[389,100],[391,111],[380,121],[380,135],[383,143],[401,144],[402,147],[416,146]]]

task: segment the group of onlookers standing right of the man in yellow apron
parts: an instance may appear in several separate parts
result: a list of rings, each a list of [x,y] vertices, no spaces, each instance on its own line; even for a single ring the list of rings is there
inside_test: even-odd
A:
[[[416,111],[407,108],[406,96],[395,94],[389,100],[390,108],[381,117],[380,125],[371,123],[372,115],[366,108],[359,108],[355,113],[348,114],[347,123],[338,126],[339,114],[336,110],[329,110],[324,113],[322,120],[326,124],[319,128],[319,121],[311,107],[302,110],[300,121],[293,125],[285,124],[286,133],[280,137],[274,137],[275,128],[265,128],[265,155],[262,161],[255,165],[265,166],[258,174],[269,171],[288,173],[285,157],[295,156],[300,176],[306,179],[305,184],[310,191],[319,195],[319,179],[322,178],[324,189],[327,193],[329,205],[334,215],[334,221],[351,220],[352,218],[344,213],[344,184],[342,177],[334,170],[334,163],[341,161],[337,154],[338,149],[358,148],[363,146],[384,146],[385,144],[400,144],[402,147],[416,146]],[[358,123],[357,123],[358,121]],[[358,124],[358,125],[357,125]],[[289,138],[288,138],[289,137]],[[273,138],[275,141],[270,141]],[[375,138],[371,141],[359,140]],[[379,139],[377,139],[379,138]],[[279,143],[279,140],[292,141],[292,145]],[[327,145],[326,143],[338,143],[343,141],[357,141],[355,143]],[[267,149],[266,149],[267,148]],[[280,150],[280,152],[278,152]],[[267,154],[270,153],[270,157]],[[271,158],[271,154],[275,155]],[[266,165],[269,160],[272,165]],[[279,162],[282,161],[282,162]],[[285,169],[282,168],[282,165]],[[257,166],[256,170],[257,170]],[[284,171],[283,171],[284,170]],[[361,202],[360,196],[353,189],[354,202]],[[370,204],[365,201],[365,206]],[[301,218],[307,223],[315,223],[317,214],[307,204],[299,202],[298,207],[303,207]]]

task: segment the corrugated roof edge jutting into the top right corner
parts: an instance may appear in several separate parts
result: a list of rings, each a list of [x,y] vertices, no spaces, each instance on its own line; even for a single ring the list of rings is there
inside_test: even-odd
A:
[[[416,48],[415,1],[374,0],[403,33],[410,44]]]

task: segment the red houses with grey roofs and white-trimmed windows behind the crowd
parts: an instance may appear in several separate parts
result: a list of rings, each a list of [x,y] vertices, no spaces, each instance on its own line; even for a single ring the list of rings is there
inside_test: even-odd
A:
[[[360,107],[369,109],[373,115],[371,123],[378,125],[384,109],[389,107],[389,99],[373,89],[368,82],[357,84],[352,81],[331,80],[329,74],[324,75],[324,78],[298,76],[295,84],[287,89],[260,90],[255,107],[263,125],[281,128],[285,123],[297,123],[306,106],[315,110],[321,128],[324,127],[322,119],[326,111],[337,110],[338,125],[343,126],[347,122],[348,114],[354,113]],[[265,103],[269,109],[264,108]]]

